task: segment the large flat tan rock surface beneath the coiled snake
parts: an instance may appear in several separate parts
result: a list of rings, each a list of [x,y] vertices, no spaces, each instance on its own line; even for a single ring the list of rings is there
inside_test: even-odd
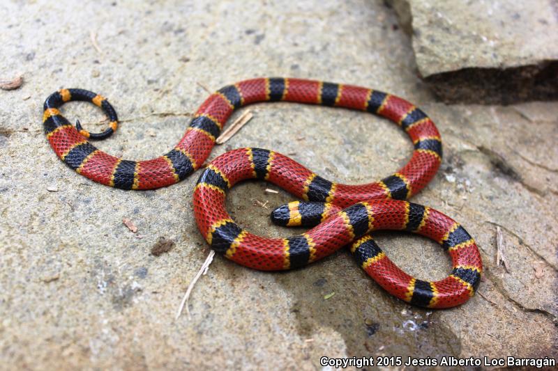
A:
[[[9,19],[0,77],[22,73],[25,81],[0,91],[0,368],[315,370],[324,355],[558,355],[556,104],[437,102],[416,77],[409,39],[379,2],[36,1],[7,3],[0,18]],[[208,95],[202,86],[269,75],[379,88],[430,114],[445,157],[413,200],[474,235],[482,296],[452,310],[415,308],[381,290],[346,251],[284,273],[217,256],[190,297],[191,319],[174,319],[209,253],[193,219],[197,175],[144,192],[86,180],[45,141],[43,100],[62,86],[109,97],[122,125],[98,147],[146,159],[180,139]],[[212,158],[258,146],[357,184],[389,175],[411,153],[395,125],[364,113],[287,103],[250,109],[255,117]],[[91,130],[106,125],[89,104],[63,113]],[[264,235],[298,232],[271,225],[271,208],[292,198],[270,187],[240,184],[228,210]],[[509,271],[495,264],[498,226]],[[155,256],[159,237],[175,245]],[[377,239],[418,278],[448,274],[448,257],[427,239]]]

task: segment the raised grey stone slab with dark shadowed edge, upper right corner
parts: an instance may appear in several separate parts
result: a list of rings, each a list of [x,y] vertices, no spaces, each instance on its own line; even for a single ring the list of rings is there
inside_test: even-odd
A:
[[[558,99],[558,1],[387,0],[446,102]]]

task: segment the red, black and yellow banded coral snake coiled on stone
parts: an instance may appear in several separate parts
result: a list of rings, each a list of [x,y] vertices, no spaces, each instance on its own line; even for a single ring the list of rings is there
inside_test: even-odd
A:
[[[79,123],[73,127],[59,111],[71,100],[100,106],[110,120],[109,127],[96,134]],[[166,155],[147,161],[120,159],[89,143],[88,139],[110,136],[118,118],[104,97],[88,90],[62,89],[47,97],[43,125],[56,155],[77,173],[111,187],[155,189],[179,182],[202,166],[235,109],[269,101],[344,107],[388,118],[414,143],[412,158],[379,182],[346,185],[330,182],[271,150],[240,148],[226,152],[206,166],[193,197],[197,226],[211,248],[246,267],[281,270],[301,267],[350,246],[366,273],[399,299],[416,306],[449,308],[472,297],[482,271],[474,239],[441,212],[406,201],[434,177],[442,160],[442,141],[432,120],[400,97],[304,79],[241,81],[210,95],[179,143]],[[274,210],[274,223],[312,228],[285,239],[260,237],[243,230],[225,210],[225,195],[234,184],[246,179],[271,182],[303,199]],[[451,274],[435,282],[409,276],[377,246],[370,237],[373,230],[407,230],[435,240],[451,256]]]

